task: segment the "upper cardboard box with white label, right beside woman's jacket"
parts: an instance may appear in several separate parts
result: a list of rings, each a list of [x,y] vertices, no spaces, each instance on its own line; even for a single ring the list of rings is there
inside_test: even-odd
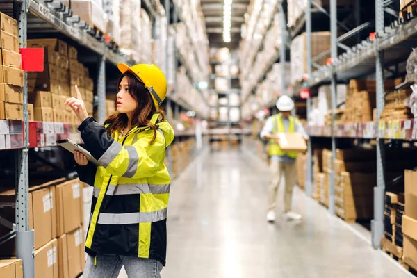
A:
[[[79,179],[56,186],[58,236],[74,231],[81,224],[81,195]]]

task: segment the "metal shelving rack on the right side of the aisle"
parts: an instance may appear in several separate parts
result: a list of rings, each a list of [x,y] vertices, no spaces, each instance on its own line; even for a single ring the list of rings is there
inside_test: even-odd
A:
[[[335,114],[332,115],[330,126],[308,126],[307,130],[313,137],[332,138],[332,158],[333,165],[336,158],[336,138],[367,138],[377,140],[377,186],[374,188],[374,219],[371,222],[372,245],[380,247],[380,240],[384,234],[384,139],[415,140],[417,138],[417,122],[414,120],[389,121],[383,122],[379,118],[384,109],[384,75],[392,74],[395,70],[389,66],[407,60],[411,47],[417,43],[416,23],[417,19],[400,24],[398,21],[391,26],[384,26],[384,14],[395,15],[389,5],[393,1],[375,0],[375,38],[363,40],[354,47],[345,49],[345,52],[338,55],[337,49],[340,47],[337,38],[337,1],[331,0],[330,20],[331,20],[331,65],[320,67],[313,72],[313,58],[311,57],[311,5],[312,0],[307,0],[305,12],[306,33],[307,33],[307,58],[308,76],[304,84],[295,85],[295,95],[300,88],[317,88],[319,85],[331,83],[332,88],[332,109],[336,108],[336,84],[362,76],[375,74],[377,83],[377,122],[367,122],[360,124],[334,124]],[[354,30],[345,35],[352,36],[357,32],[363,31],[372,26],[370,23],[359,25]],[[343,36],[342,36],[343,37]],[[387,67],[388,66],[388,67]],[[307,99],[308,115],[311,113],[311,99]],[[311,140],[309,142],[309,152],[307,159],[306,174],[306,193],[311,195],[313,189],[312,181],[312,149]],[[330,179],[329,188],[329,211],[334,214],[334,169]]]

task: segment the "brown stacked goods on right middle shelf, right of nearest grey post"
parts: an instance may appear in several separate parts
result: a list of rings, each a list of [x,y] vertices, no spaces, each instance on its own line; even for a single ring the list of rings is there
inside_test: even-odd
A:
[[[404,78],[395,79],[395,86],[404,82]],[[413,118],[411,109],[407,107],[409,97],[412,94],[411,88],[395,90],[389,92],[385,97],[384,111],[382,111],[380,120],[407,120]]]

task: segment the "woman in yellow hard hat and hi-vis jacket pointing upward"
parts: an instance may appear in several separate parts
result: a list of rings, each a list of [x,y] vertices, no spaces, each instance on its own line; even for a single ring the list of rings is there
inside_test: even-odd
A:
[[[85,149],[101,164],[95,167],[74,152],[81,181],[94,185],[84,277],[161,277],[167,247],[170,174],[165,148],[174,131],[158,110],[167,81],[156,65],[119,64],[117,112],[104,126],[88,116],[83,99],[67,99],[79,118]]]

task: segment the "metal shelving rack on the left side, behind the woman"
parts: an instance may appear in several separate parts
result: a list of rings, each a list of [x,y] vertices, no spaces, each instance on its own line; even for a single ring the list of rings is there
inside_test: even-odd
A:
[[[170,1],[165,1],[165,7],[170,10]],[[150,0],[142,0],[142,8],[155,22],[156,17],[160,16],[156,7]],[[0,10],[6,13],[13,13],[13,17],[18,20],[19,42],[20,47],[26,47],[28,32],[35,31],[54,31],[66,40],[72,40],[75,44],[79,44],[89,53],[95,54],[97,59],[97,103],[98,103],[98,121],[104,122],[106,111],[106,64],[116,67],[118,63],[126,63],[134,65],[139,61],[134,61],[120,51],[109,47],[103,38],[99,38],[85,22],[81,22],[77,15],[73,15],[72,11],[63,6],[59,1],[54,0],[1,0]],[[174,15],[175,16],[175,15]],[[167,13],[167,22],[170,22],[170,15]],[[154,25],[155,26],[155,25]],[[154,27],[155,28],[155,27]],[[167,49],[168,49],[167,45]],[[167,51],[166,49],[166,51]],[[176,51],[177,52],[177,51]],[[175,84],[176,86],[176,84]],[[16,220],[10,223],[0,215],[0,224],[10,228],[10,233],[0,238],[0,243],[16,238],[17,242],[17,258],[23,260],[24,277],[34,277],[34,234],[29,229],[28,224],[28,156],[29,149],[32,147],[50,147],[54,146],[56,139],[72,138],[76,142],[81,142],[81,137],[76,131],[74,124],[48,123],[48,122],[29,122],[28,120],[28,89],[27,74],[24,73],[24,104],[23,104],[23,121],[9,121],[13,124],[22,124],[23,144],[15,149],[15,185],[17,189],[16,195]],[[175,94],[167,95],[167,105],[174,104],[174,119],[178,119],[179,108],[193,110],[186,101],[179,99]],[[31,133],[49,133],[51,140],[48,142],[31,142],[29,140],[29,132]],[[195,132],[177,133],[177,137],[195,136]],[[170,159],[169,151],[167,156]]]

